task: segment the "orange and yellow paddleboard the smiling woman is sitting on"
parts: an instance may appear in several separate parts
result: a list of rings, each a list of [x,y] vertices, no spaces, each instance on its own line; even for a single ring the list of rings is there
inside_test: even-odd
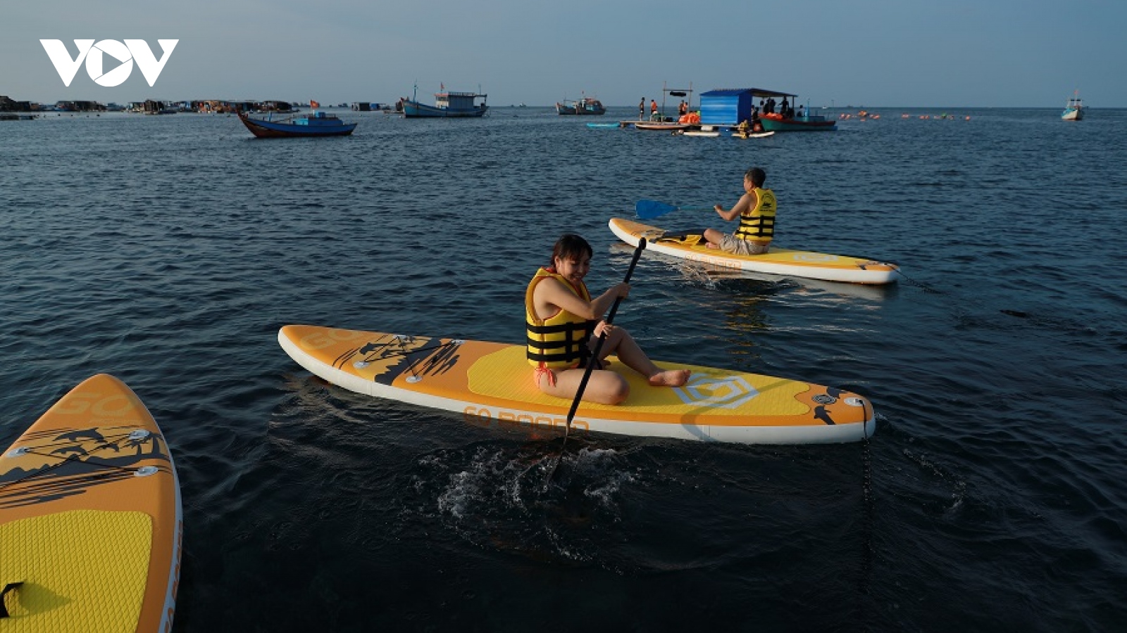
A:
[[[570,400],[532,382],[524,347],[499,342],[285,326],[278,342],[302,367],[347,390],[461,413],[472,424],[556,427]],[[876,418],[855,393],[713,367],[689,368],[684,387],[653,387],[612,357],[630,382],[619,405],[583,402],[571,428],[744,444],[823,444],[871,436]]]

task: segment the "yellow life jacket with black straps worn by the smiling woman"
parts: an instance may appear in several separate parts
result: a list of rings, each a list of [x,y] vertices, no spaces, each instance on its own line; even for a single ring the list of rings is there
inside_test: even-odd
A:
[[[591,293],[583,283],[579,287],[571,285],[566,277],[541,268],[529,283],[524,292],[524,328],[527,332],[526,356],[529,363],[536,367],[568,368],[576,367],[591,356],[587,341],[595,329],[595,322],[588,321],[566,310],[560,310],[548,319],[536,318],[536,309],[532,303],[532,292],[536,284],[548,278],[559,279],[567,288],[584,301],[591,301]]]

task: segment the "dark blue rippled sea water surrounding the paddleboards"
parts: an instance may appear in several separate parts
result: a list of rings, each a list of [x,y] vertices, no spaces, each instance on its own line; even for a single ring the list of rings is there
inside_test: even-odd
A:
[[[168,438],[177,631],[1119,631],[1127,110],[881,112],[675,137],[548,108],[258,141],[233,117],[0,122],[0,446],[108,372]],[[604,121],[627,118],[630,108]],[[639,198],[900,264],[890,288],[642,257],[657,359],[846,387],[869,443],[559,436],[325,384],[286,323],[520,342],[558,234],[601,291]],[[720,226],[676,212],[673,229]]]

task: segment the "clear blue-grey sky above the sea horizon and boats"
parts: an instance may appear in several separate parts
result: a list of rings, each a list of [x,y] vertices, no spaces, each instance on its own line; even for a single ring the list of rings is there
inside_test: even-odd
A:
[[[54,0],[6,2],[0,95],[103,104],[231,99],[609,106],[663,87],[764,88],[811,106],[1127,107],[1124,0]],[[178,39],[150,87],[134,68],[63,84],[39,39]],[[104,56],[104,71],[117,62]],[[676,98],[672,98],[676,99]]]

